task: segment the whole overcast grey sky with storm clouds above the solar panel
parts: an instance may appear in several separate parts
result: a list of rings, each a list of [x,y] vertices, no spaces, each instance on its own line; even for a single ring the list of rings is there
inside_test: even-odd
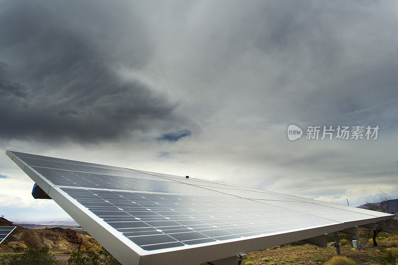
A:
[[[396,1],[0,0],[0,148],[397,198],[397,47]],[[380,131],[292,142],[290,124]],[[0,156],[1,214],[66,216],[32,185]]]

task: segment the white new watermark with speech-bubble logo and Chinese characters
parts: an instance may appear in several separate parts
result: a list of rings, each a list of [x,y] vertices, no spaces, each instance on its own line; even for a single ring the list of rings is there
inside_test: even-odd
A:
[[[323,140],[323,139],[340,139],[340,140],[376,140],[380,127],[376,126],[316,126],[308,125],[305,131],[305,139],[307,140]],[[295,124],[288,127],[288,138],[291,141],[301,139],[303,131]]]

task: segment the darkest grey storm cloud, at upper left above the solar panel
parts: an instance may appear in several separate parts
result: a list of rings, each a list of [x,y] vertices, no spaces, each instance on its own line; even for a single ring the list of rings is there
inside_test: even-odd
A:
[[[163,129],[175,105],[117,71],[145,66],[151,43],[129,5],[1,1],[0,137],[95,142]]]

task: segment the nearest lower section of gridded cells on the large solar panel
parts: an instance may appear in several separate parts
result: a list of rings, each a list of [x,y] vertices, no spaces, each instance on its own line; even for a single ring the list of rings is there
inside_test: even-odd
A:
[[[61,189],[145,250],[337,224],[237,197]]]

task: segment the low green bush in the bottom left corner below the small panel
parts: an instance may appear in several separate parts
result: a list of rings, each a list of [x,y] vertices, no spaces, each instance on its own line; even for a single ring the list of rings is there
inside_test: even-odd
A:
[[[48,247],[26,248],[22,254],[0,256],[0,265],[55,265],[55,258]]]

